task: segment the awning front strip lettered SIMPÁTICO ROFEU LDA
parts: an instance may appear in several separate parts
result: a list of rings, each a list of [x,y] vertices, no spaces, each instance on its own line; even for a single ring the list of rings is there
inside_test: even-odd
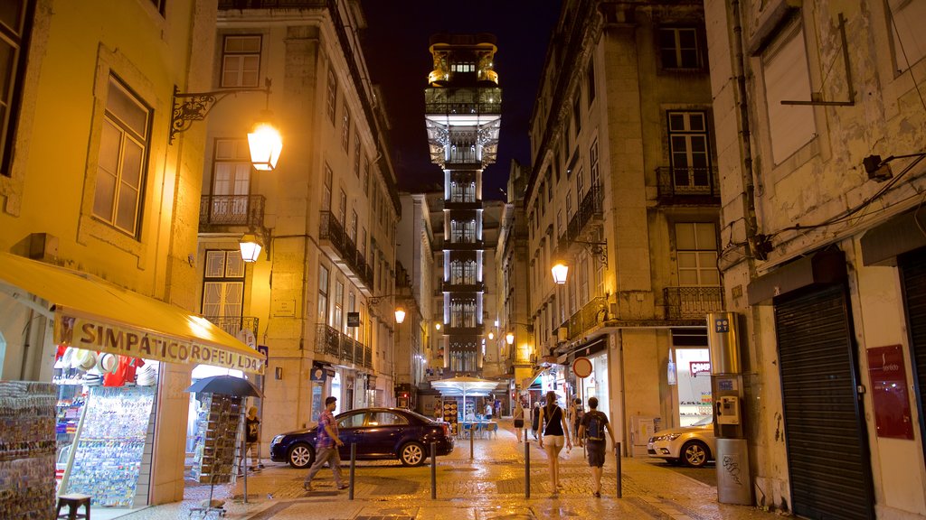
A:
[[[78,316],[56,319],[55,340],[78,349],[181,364],[222,366],[262,374],[260,353],[230,352],[194,340],[180,340],[142,328],[127,328]]]

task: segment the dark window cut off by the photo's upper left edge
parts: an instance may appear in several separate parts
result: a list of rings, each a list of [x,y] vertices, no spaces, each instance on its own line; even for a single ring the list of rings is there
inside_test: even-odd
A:
[[[31,29],[27,0],[5,0],[0,14],[0,172],[9,176],[13,162],[13,135],[26,60],[22,53]]]

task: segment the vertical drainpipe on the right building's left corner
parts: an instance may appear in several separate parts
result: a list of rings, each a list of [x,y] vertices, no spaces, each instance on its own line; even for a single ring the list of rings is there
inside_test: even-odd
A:
[[[753,181],[752,145],[750,143],[751,131],[749,130],[749,98],[746,93],[745,56],[743,56],[743,23],[740,21],[742,19],[742,14],[740,12],[739,0],[732,0],[730,6],[732,8],[733,49],[735,52],[733,68],[739,97],[740,145],[743,151],[743,215],[745,217],[746,241],[749,244],[749,251],[752,253],[752,256],[747,259],[747,262],[749,265],[750,278],[755,278],[756,258],[761,259],[766,253],[761,251],[762,246],[757,243],[764,242],[764,237],[758,234],[756,219],[756,183]]]

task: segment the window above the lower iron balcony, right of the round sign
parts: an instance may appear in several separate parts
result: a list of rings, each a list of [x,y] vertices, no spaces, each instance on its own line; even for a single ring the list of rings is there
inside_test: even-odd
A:
[[[679,285],[720,285],[717,269],[717,231],[710,222],[677,222],[675,250],[678,254]]]

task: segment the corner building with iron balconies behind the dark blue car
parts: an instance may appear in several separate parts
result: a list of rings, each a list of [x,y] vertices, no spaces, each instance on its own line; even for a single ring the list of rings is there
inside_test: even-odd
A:
[[[216,105],[208,121],[197,296],[203,314],[246,329],[268,350],[263,436],[338,411],[394,404],[395,226],[400,215],[382,105],[357,31],[359,3],[219,2],[210,90],[260,89]],[[272,171],[238,139],[262,109],[281,129]],[[232,271],[244,234],[263,244]],[[356,321],[355,321],[356,319]],[[244,332],[247,335],[247,331]]]

